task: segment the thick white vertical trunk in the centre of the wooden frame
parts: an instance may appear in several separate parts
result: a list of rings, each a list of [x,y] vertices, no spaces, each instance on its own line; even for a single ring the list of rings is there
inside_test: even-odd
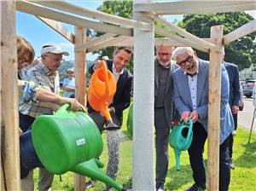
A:
[[[145,0],[136,0],[144,3]],[[147,1],[148,2],[148,1]],[[154,190],[154,19],[134,12],[135,20],[152,25],[134,27],[134,110],[132,190]],[[146,82],[146,83],[145,83]]]

